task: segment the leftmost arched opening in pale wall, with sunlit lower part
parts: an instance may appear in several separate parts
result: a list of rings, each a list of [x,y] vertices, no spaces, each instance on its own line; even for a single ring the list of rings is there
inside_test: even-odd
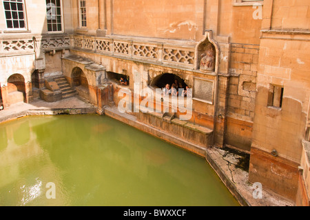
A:
[[[8,78],[8,99],[10,104],[27,102],[25,96],[25,78],[21,74],[12,74]]]

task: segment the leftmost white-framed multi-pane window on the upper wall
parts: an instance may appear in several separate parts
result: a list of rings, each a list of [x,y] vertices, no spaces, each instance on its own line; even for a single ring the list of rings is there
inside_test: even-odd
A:
[[[6,26],[8,29],[25,30],[25,10],[23,0],[3,0]]]

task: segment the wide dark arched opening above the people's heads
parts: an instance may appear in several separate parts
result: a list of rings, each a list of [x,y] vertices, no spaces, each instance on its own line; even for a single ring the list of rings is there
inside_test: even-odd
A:
[[[164,88],[167,84],[169,84],[170,87],[173,84],[178,84],[176,85],[177,88],[185,88],[187,86],[184,79],[172,73],[164,73],[155,77],[151,81],[149,86],[151,86],[152,88]]]

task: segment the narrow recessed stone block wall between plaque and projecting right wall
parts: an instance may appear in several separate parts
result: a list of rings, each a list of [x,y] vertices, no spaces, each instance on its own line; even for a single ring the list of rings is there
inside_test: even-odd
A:
[[[225,141],[246,151],[251,148],[259,51],[259,45],[231,43]]]

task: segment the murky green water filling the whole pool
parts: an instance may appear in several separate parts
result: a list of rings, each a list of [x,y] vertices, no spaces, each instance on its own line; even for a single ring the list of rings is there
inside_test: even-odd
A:
[[[94,114],[0,124],[0,206],[238,202],[205,159]]]

